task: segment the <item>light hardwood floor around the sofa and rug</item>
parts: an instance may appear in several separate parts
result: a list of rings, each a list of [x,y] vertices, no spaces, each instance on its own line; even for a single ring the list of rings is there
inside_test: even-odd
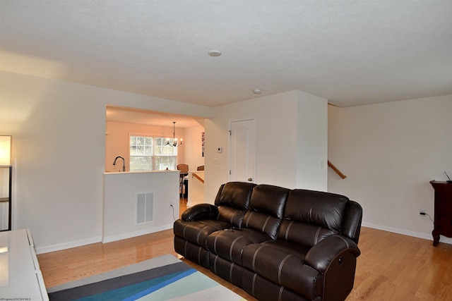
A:
[[[185,203],[181,202],[181,211]],[[452,300],[452,245],[440,242],[433,247],[431,240],[363,227],[359,248],[355,286],[347,301]],[[38,259],[49,288],[162,254],[177,257],[172,230],[39,254]],[[256,300],[209,270],[183,260],[247,300]]]

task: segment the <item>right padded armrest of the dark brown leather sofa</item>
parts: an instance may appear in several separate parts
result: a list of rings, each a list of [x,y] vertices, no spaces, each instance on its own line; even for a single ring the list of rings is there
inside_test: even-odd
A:
[[[335,257],[347,252],[355,257],[361,254],[357,244],[350,238],[340,235],[329,236],[311,247],[304,258],[304,262],[317,271],[325,273]]]

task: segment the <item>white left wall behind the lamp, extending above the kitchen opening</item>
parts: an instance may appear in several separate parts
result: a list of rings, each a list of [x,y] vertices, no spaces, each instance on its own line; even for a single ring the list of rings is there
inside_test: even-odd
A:
[[[167,99],[0,73],[0,135],[12,135],[13,228],[37,252],[100,241],[107,104],[209,118]]]

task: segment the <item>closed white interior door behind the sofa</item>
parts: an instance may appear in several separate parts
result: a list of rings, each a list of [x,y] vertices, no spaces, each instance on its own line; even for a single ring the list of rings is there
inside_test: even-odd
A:
[[[230,123],[230,180],[255,183],[256,123],[254,119]]]

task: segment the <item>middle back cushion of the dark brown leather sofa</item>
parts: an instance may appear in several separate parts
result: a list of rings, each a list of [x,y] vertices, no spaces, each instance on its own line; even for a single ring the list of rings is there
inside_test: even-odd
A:
[[[290,190],[273,185],[257,185],[251,194],[243,227],[266,233],[275,239],[284,215]]]

